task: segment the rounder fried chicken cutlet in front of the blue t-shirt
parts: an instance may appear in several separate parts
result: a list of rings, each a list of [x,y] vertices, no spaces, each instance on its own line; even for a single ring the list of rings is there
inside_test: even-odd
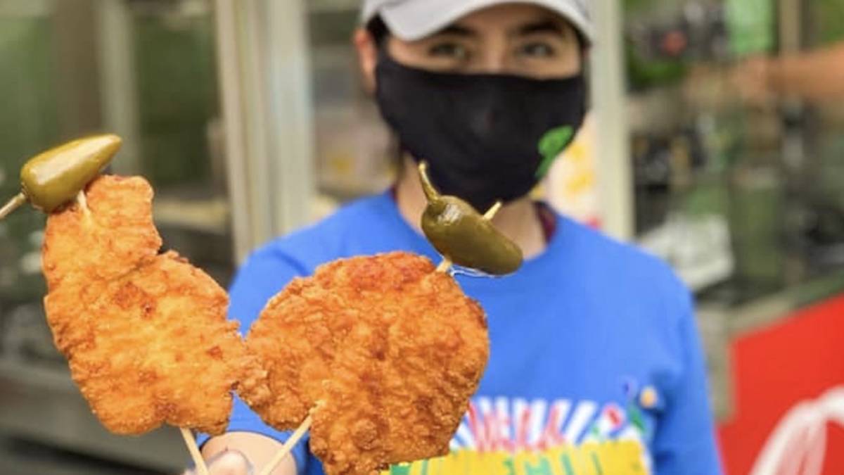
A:
[[[447,453],[489,356],[483,310],[430,260],[341,259],[273,298],[246,342],[273,399],[252,408],[293,429],[329,475]]]

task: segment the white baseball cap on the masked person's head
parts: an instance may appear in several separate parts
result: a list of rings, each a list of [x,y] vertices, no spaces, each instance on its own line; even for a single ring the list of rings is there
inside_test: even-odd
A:
[[[474,11],[503,3],[528,3],[562,15],[592,42],[590,0],[365,0],[361,20],[381,16],[393,35],[414,41],[436,33]]]

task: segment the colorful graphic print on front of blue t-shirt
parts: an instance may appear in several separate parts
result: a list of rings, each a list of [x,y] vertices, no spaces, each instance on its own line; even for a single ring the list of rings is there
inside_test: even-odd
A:
[[[650,423],[638,404],[479,397],[447,456],[384,475],[649,475]]]

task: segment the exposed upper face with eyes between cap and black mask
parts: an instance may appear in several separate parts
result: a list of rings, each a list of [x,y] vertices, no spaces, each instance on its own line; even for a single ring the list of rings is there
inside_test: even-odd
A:
[[[398,63],[443,73],[563,78],[582,69],[575,30],[535,5],[506,4],[468,14],[419,41],[389,38]]]

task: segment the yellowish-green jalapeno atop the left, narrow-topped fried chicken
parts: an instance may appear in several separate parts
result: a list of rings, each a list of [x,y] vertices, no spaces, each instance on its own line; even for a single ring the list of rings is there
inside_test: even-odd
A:
[[[116,135],[97,135],[73,140],[30,159],[20,171],[23,191],[0,209],[0,219],[26,201],[46,213],[56,210],[109,164],[121,143]]]

